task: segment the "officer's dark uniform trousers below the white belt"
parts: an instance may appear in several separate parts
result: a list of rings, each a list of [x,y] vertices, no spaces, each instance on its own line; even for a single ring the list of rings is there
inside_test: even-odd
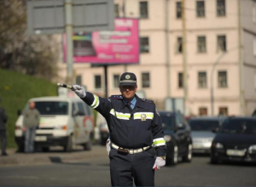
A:
[[[110,174],[112,186],[154,186],[154,148],[136,154],[111,149]]]

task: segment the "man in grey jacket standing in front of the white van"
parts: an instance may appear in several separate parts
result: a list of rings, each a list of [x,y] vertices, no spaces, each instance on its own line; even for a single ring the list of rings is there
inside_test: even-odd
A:
[[[35,108],[34,102],[29,103],[29,109],[27,109],[23,116],[23,125],[26,128],[25,133],[25,152],[32,153],[34,151],[34,138],[36,129],[40,122],[40,113]]]

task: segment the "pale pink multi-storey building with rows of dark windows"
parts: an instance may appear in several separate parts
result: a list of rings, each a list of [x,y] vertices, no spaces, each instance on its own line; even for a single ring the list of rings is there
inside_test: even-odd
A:
[[[140,19],[141,54],[139,65],[108,66],[109,96],[119,94],[119,77],[130,71],[137,75],[138,90],[160,110],[165,110],[167,98],[174,98],[185,99],[188,116],[252,114],[256,108],[255,0],[184,0],[184,20],[181,0],[115,3],[117,16]],[[102,67],[75,63],[73,68],[79,84],[104,96]],[[66,65],[60,63],[63,80],[66,72]],[[187,82],[185,98],[183,81]]]

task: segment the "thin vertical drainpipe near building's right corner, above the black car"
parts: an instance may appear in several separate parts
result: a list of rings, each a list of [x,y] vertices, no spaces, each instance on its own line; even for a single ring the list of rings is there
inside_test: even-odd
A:
[[[245,100],[244,100],[244,75],[243,75],[243,59],[242,59],[242,45],[241,45],[241,3],[240,0],[237,0],[237,21],[238,21],[238,63],[239,63],[239,97],[240,97],[240,115],[245,115]]]

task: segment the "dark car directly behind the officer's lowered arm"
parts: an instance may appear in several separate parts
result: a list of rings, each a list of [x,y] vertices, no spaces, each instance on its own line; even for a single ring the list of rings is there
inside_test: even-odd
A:
[[[166,140],[166,165],[192,160],[190,127],[180,112],[160,111]]]

